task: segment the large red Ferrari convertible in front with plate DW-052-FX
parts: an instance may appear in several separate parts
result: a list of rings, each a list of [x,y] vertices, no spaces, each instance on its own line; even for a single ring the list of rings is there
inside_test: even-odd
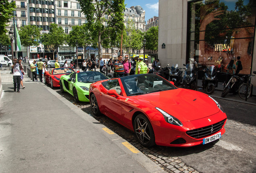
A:
[[[135,132],[146,146],[190,147],[215,141],[225,133],[227,116],[210,96],[177,88],[157,74],[137,74],[90,85],[94,115]]]

